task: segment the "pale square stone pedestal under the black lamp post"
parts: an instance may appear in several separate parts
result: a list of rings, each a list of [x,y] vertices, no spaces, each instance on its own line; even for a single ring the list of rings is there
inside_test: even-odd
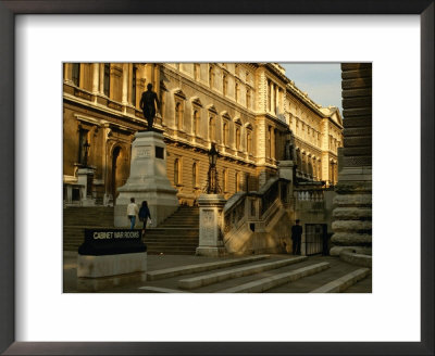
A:
[[[223,243],[223,208],[226,200],[220,194],[202,194],[199,203],[199,245],[196,254],[217,257],[226,254]]]

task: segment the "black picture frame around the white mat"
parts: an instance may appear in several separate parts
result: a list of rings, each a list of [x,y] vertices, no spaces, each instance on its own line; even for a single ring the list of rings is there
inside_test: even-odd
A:
[[[433,0],[0,0],[0,352],[5,355],[434,355]],[[418,14],[421,17],[421,342],[15,342],[14,22],[17,14]],[[399,74],[398,74],[399,75]],[[388,119],[388,118],[386,118]],[[12,189],[13,188],[13,189]]]

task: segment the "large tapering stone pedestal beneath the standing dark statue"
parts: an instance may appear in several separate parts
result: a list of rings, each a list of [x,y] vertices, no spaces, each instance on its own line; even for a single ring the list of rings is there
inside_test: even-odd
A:
[[[115,227],[127,227],[127,205],[135,198],[140,207],[148,202],[152,227],[163,221],[178,207],[177,190],[166,175],[166,145],[162,131],[136,132],[132,144],[130,173],[125,186],[117,189],[114,209]]]

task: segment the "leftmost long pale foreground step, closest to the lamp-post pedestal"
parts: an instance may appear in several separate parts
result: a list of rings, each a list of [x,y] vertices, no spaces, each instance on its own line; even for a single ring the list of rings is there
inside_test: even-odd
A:
[[[217,262],[210,262],[204,264],[195,264],[188,266],[179,266],[173,268],[159,269],[147,272],[147,280],[153,281],[159,279],[172,278],[176,276],[191,275],[198,274],[220,268],[226,268],[232,266],[237,266],[241,264],[249,264],[258,260],[262,260],[268,258],[269,255],[257,255],[257,256],[248,256],[240,258],[231,258]]]

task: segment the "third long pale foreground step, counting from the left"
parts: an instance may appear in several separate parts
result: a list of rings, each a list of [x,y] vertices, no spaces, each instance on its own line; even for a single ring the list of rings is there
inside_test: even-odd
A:
[[[219,291],[220,293],[262,293],[272,288],[296,281],[300,278],[319,274],[330,267],[328,263],[320,263],[310,265],[296,270],[291,270],[284,274],[278,274],[260,280],[254,280],[241,285],[232,287],[225,290]]]

